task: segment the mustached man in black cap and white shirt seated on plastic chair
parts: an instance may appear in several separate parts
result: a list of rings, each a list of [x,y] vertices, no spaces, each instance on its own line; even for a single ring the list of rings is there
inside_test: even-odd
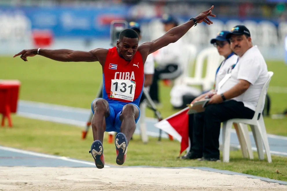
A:
[[[205,109],[201,122],[204,138],[203,151],[198,153],[203,156],[200,160],[220,160],[220,123],[232,118],[253,118],[260,92],[268,78],[266,62],[257,46],[253,46],[250,31],[245,26],[233,27],[226,38],[239,59],[219,82],[217,94],[211,97]]]

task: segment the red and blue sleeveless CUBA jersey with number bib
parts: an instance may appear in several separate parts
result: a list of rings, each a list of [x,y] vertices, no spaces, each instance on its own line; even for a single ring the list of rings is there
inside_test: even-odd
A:
[[[103,98],[108,103],[139,105],[143,81],[143,60],[139,51],[131,61],[126,61],[119,56],[116,47],[108,50],[103,72]]]

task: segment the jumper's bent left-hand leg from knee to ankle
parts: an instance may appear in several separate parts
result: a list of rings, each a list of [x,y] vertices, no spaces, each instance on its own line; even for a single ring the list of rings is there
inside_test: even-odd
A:
[[[92,103],[94,116],[92,118],[92,130],[94,140],[103,142],[106,131],[106,117],[110,115],[108,102],[105,99],[97,98]]]

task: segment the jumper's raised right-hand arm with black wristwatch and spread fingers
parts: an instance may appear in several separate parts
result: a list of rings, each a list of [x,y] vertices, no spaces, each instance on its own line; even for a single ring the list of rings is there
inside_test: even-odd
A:
[[[208,25],[213,24],[213,22],[210,21],[210,19],[207,17],[207,16],[215,17],[214,14],[211,14],[211,10],[213,9],[213,7],[214,6],[212,5],[210,9],[203,11],[198,16],[196,16],[195,17],[196,22],[197,23],[205,22]],[[157,51],[158,49],[161,49],[162,47],[165,47],[168,44],[179,40],[192,26],[194,26],[194,24],[195,23],[193,20],[187,21],[186,23],[182,25],[179,25],[177,27],[170,29],[160,38],[153,40],[151,42],[144,42],[141,45],[144,45],[143,47],[147,47],[147,49],[149,49],[148,54],[153,53]],[[148,44],[148,46],[146,46],[146,44]]]

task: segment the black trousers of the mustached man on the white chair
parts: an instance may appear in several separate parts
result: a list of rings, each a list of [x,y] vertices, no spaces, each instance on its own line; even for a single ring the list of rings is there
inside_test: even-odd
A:
[[[194,114],[190,152],[200,157],[219,159],[220,123],[233,118],[252,119],[254,113],[235,100],[207,105],[205,112]]]

